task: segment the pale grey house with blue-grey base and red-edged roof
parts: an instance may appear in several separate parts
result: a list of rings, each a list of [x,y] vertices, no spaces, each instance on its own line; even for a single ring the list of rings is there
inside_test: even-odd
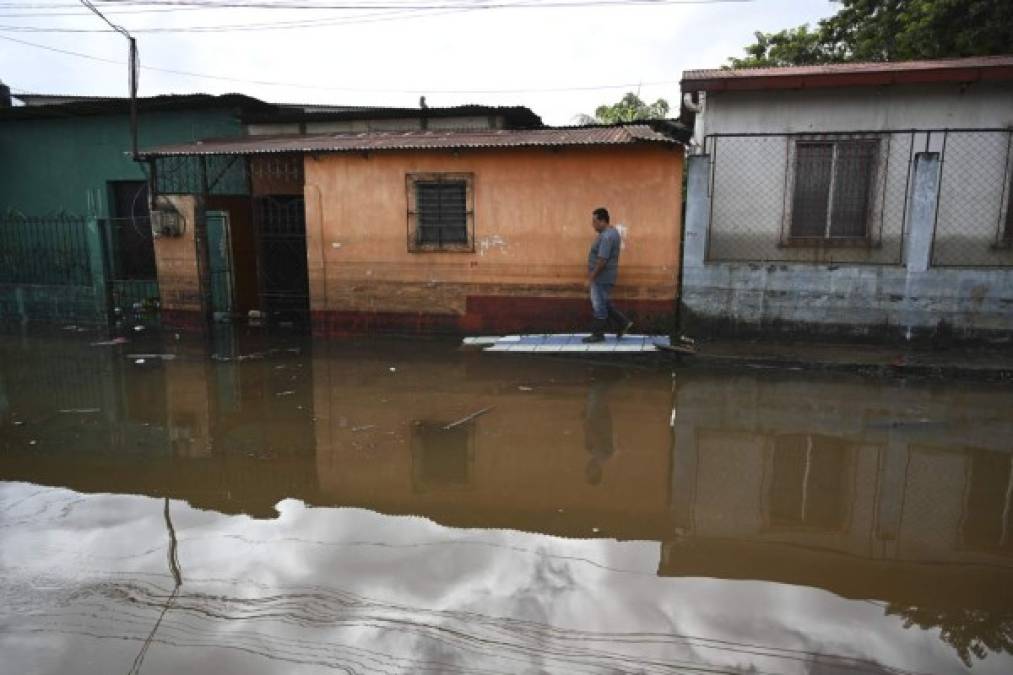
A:
[[[1006,339],[1013,57],[684,73],[709,333]]]

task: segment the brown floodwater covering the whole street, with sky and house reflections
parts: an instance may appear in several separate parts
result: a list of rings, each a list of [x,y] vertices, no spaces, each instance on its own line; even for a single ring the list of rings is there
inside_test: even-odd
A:
[[[1013,672],[1008,386],[140,338],[0,338],[3,673]]]

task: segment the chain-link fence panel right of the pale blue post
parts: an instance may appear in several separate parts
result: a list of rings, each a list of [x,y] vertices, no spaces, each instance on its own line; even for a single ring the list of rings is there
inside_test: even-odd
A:
[[[944,133],[933,266],[1013,266],[1011,147],[1009,130]]]

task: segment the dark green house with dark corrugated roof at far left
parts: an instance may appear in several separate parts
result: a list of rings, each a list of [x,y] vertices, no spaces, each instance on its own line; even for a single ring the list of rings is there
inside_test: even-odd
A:
[[[0,320],[104,323],[157,299],[129,99],[18,98],[0,106]],[[141,144],[238,136],[242,115],[272,109],[238,94],[152,96],[138,108]]]

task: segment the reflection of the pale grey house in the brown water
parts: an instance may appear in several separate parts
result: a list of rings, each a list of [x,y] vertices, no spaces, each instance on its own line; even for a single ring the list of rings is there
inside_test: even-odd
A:
[[[1013,652],[1008,394],[777,377],[679,387],[658,574],[809,586]],[[954,405],[954,402],[958,404]]]

